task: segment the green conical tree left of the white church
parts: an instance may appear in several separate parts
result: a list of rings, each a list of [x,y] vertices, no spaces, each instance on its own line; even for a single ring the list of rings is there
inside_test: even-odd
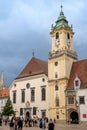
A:
[[[11,116],[12,114],[14,114],[13,105],[10,98],[8,98],[6,105],[3,108],[2,115]]]

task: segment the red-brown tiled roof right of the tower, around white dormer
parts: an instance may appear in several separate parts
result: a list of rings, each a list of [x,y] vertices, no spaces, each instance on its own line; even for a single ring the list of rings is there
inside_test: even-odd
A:
[[[68,81],[67,89],[74,89],[74,80],[76,76],[81,81],[81,88],[87,88],[87,60],[81,60],[72,64],[70,79]]]

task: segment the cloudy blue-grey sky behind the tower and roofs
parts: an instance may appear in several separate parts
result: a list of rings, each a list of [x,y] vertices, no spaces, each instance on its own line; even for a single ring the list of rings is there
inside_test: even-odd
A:
[[[51,47],[51,24],[60,6],[69,25],[73,24],[78,58],[87,59],[87,2],[83,0],[0,1],[0,75],[9,86],[32,58],[46,60]]]

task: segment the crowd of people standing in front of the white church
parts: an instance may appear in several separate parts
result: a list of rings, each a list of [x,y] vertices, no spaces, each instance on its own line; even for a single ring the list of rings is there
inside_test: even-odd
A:
[[[48,128],[48,130],[54,130],[54,124],[55,120],[52,121],[50,119],[48,121],[48,118],[42,117],[42,118],[29,118],[26,117],[25,119],[23,117],[15,117],[13,116],[11,119],[7,118],[2,121],[0,118],[0,124],[2,126],[2,122],[4,123],[5,126],[8,126],[10,130],[22,130],[23,127],[34,127],[37,126],[41,130],[45,130]]]

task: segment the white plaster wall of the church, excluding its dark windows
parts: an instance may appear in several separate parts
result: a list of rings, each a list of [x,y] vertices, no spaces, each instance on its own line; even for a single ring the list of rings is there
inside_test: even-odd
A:
[[[45,78],[45,81],[42,81],[42,78]],[[26,84],[30,83],[30,88],[26,88]],[[14,86],[16,84],[16,87]],[[46,101],[41,101],[41,86],[46,85]],[[31,88],[35,87],[35,102],[30,101],[30,92]],[[21,103],[21,89],[25,89],[25,103]],[[13,91],[17,91],[17,100],[16,104],[13,104],[14,110],[17,110],[17,116],[20,114],[20,108],[26,108],[26,102],[30,102],[30,108],[37,107],[37,114],[41,117],[41,110],[46,110],[48,117],[48,108],[49,108],[49,97],[48,97],[48,78],[46,75],[31,76],[24,79],[18,79],[13,82],[10,86],[10,99],[13,101]]]

